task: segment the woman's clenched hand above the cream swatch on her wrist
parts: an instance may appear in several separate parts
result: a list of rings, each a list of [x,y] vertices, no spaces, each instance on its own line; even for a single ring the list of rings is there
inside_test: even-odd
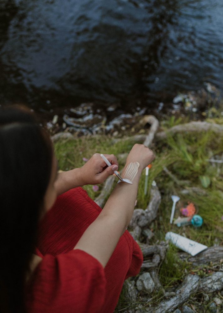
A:
[[[155,157],[153,151],[148,147],[136,143],[127,157],[126,164],[129,164],[130,162],[139,162],[142,171],[155,159]]]

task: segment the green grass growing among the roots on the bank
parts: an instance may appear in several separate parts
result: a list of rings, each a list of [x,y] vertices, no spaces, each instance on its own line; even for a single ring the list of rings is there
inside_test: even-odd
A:
[[[172,119],[163,123],[163,127],[170,127],[179,122],[180,120],[174,121]],[[85,162],[82,158],[89,159],[96,152],[113,153],[116,156],[121,153],[128,153],[133,144],[134,142],[131,139],[113,144],[111,136],[86,136],[57,141],[55,153],[59,168],[65,171],[83,166]],[[151,244],[156,243],[157,240],[164,240],[168,231],[185,235],[187,238],[199,241],[207,246],[216,243],[223,244],[223,220],[221,218],[223,216],[223,164],[212,165],[210,162],[205,161],[216,155],[222,156],[222,137],[216,136],[212,132],[177,134],[168,136],[166,140],[158,142],[152,149],[156,154],[156,159],[149,170],[148,192],[144,195],[145,171],[143,171],[136,206],[136,208],[146,209],[149,203],[149,189],[152,181],[155,180],[161,192],[162,201],[158,216],[150,225],[154,232]],[[119,169],[122,167],[124,167],[123,161],[119,163]],[[163,167],[167,167],[175,176],[176,181],[163,171]],[[210,185],[207,188],[202,186],[201,176],[210,179]],[[99,186],[98,192],[94,192],[91,185],[84,186],[84,189],[94,199],[100,194],[102,186],[103,184]],[[188,194],[181,193],[183,189],[190,190],[190,187],[198,187],[206,194],[201,195],[193,191],[189,191]],[[180,208],[185,207],[188,202],[193,202],[197,213],[203,218],[203,225],[200,228],[193,228],[190,225],[178,228],[176,225],[169,223],[173,203],[171,195],[180,197],[180,201],[176,205],[174,218],[180,215]],[[166,259],[160,266],[159,275],[164,289],[179,284],[190,271],[197,272],[201,277],[208,275],[205,267],[191,267],[191,264],[180,260],[178,251],[176,247],[170,245]],[[155,296],[154,301],[156,303],[162,300],[162,295],[159,293],[147,295],[147,298],[148,296]],[[143,301],[141,300],[140,303],[143,304]],[[135,303],[135,307],[138,305],[139,303]],[[127,307],[127,302],[125,300],[125,288],[123,287],[115,312],[124,312],[125,307]],[[134,305],[131,307],[133,308]],[[128,308],[130,307],[128,306]]]

